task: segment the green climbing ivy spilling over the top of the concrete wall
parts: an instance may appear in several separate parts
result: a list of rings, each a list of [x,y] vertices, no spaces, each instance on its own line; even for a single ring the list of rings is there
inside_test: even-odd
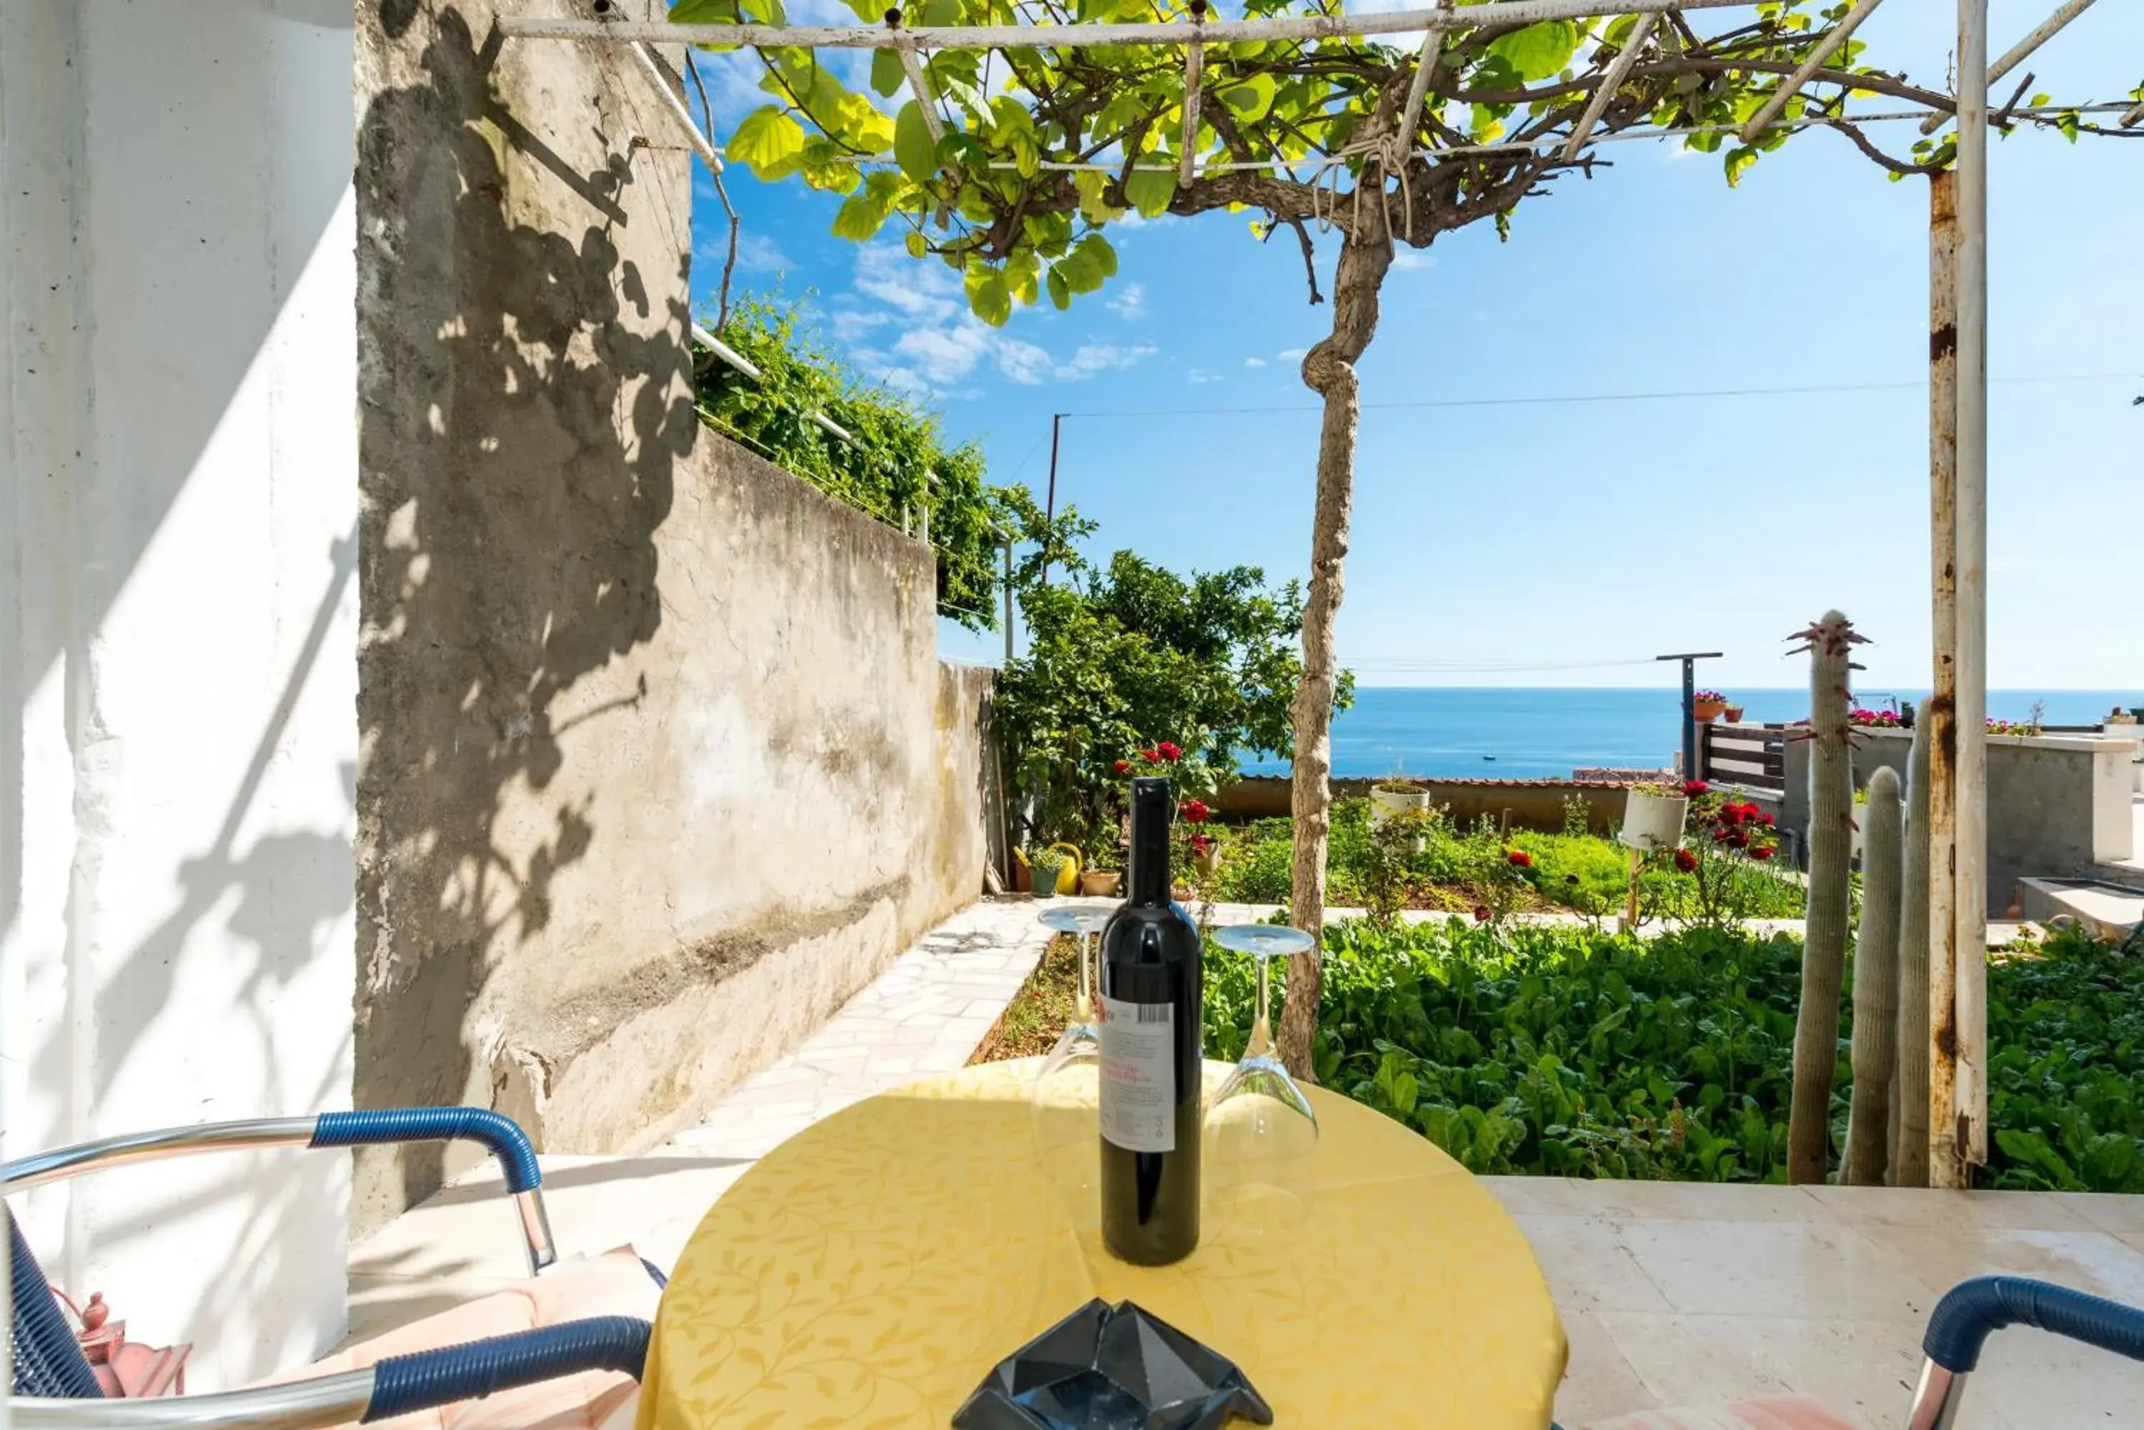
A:
[[[1001,497],[982,480],[982,450],[973,442],[948,446],[935,414],[862,382],[798,324],[793,307],[744,300],[720,339],[759,377],[695,345],[701,420],[890,525],[920,532],[928,500],[939,615],[971,630],[997,628],[993,512]],[[813,414],[849,437],[836,437]]]

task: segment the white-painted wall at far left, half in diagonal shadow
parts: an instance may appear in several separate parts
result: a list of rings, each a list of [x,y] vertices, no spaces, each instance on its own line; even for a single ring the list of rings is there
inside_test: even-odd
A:
[[[4,1156],[349,1104],[349,0],[0,4]],[[214,1389],[341,1336],[349,1160],[13,1198]]]

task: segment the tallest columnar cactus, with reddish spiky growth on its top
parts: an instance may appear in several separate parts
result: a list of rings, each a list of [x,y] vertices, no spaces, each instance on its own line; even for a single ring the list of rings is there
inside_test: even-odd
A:
[[[1831,1078],[1840,1061],[1840,986],[1846,982],[1846,860],[1855,821],[1846,684],[1848,654],[1863,637],[1829,611],[1799,639],[1807,639],[1803,650],[1810,652],[1810,915],[1795,1018],[1795,1104],[1786,1119],[1786,1179],[1797,1183],[1822,1181],[1831,1164]]]

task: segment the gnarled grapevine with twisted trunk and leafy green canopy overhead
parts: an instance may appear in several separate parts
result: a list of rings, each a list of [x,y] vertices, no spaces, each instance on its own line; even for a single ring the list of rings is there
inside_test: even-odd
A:
[[[868,21],[888,15],[883,0],[851,4]],[[1244,15],[1336,13],[1325,4],[1246,0]],[[1323,399],[1323,424],[1304,680],[1291,712],[1293,918],[1319,930],[1338,692],[1334,626],[1359,416],[1355,364],[1376,332],[1379,292],[1396,247],[1426,249],[1479,221],[1505,232],[1520,199],[1606,167],[1584,146],[1567,144],[1587,116],[1595,135],[1642,124],[1687,131],[1692,148],[1722,152],[1728,182],[1739,180],[1788,131],[1769,129],[1754,144],[1730,131],[1810,58],[1844,11],[1777,0],[1758,6],[1754,21],[1700,32],[1713,11],[1512,26],[1469,24],[1466,6],[1456,6],[1449,28],[1424,47],[1432,64],[1421,71],[1419,105],[1417,54],[1374,39],[1203,45],[1192,124],[1183,49],[926,51],[920,58],[930,114],[909,96],[890,118],[810,49],[763,47],[753,54],[774,103],[735,126],[727,152],[761,178],[798,176],[845,193],[836,234],[864,242],[894,227],[915,259],[961,272],[969,304],[991,324],[1042,294],[1066,309],[1100,289],[1117,270],[1104,232],[1126,212],[1246,212],[1261,242],[1286,229],[1301,249],[1312,302],[1325,300],[1314,232],[1338,236],[1331,330],[1301,364],[1304,384]],[[1205,0],[903,0],[898,11],[905,26],[1038,28],[1203,15]],[[671,17],[778,24],[783,13],[780,0],[675,0]],[[1945,94],[1857,64],[1859,54],[1857,41],[1840,45],[1788,99],[1782,118],[1857,135],[1842,118],[1852,92],[1951,107]],[[888,101],[903,94],[898,51],[873,51],[870,88]],[[1497,148],[1482,148],[1490,144]],[[870,163],[888,154],[892,163]],[[1319,954],[1293,960],[1280,1044],[1299,1072],[1310,1070],[1319,980]]]

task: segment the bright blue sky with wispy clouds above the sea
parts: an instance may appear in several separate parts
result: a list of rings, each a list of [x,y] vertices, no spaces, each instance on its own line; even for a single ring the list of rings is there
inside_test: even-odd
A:
[[[849,15],[791,15],[819,9]],[[1992,0],[1992,47],[2048,9]],[[1951,24],[1942,0],[1893,0],[1861,36],[1940,88]],[[718,129],[759,103],[748,60],[701,64]],[[2144,6],[2086,11],[2028,69],[2058,99],[2127,92]],[[1893,150],[1906,129],[1882,129]],[[1509,242],[1447,234],[1387,279],[1342,658],[1364,684],[1657,684],[1653,654],[1722,650],[1713,684],[1780,686],[1799,680],[1782,637],[1840,607],[1876,641],[1865,682],[1925,686],[1927,184],[1887,182],[1831,133],[1732,191],[1717,157],[1602,152],[1595,180],[1522,204]],[[858,369],[982,442],[993,480],[1040,493],[1051,414],[1078,414],[1059,502],[1102,523],[1098,551],[1306,570],[1316,412],[1297,358],[1329,309],[1306,302],[1293,240],[1261,247],[1248,214],[1113,225],[1108,289],[991,330],[943,266],[832,238],[830,195],[742,169],[729,187],[740,285],[804,300]],[[2018,133],[1990,191],[1990,684],[2144,686],[2144,139]],[[712,195],[695,225],[712,313]],[[1807,386],[1857,390],[1379,407]],[[1164,416],[1100,416],[1147,412]],[[948,628],[943,650],[995,658],[1001,639]]]

